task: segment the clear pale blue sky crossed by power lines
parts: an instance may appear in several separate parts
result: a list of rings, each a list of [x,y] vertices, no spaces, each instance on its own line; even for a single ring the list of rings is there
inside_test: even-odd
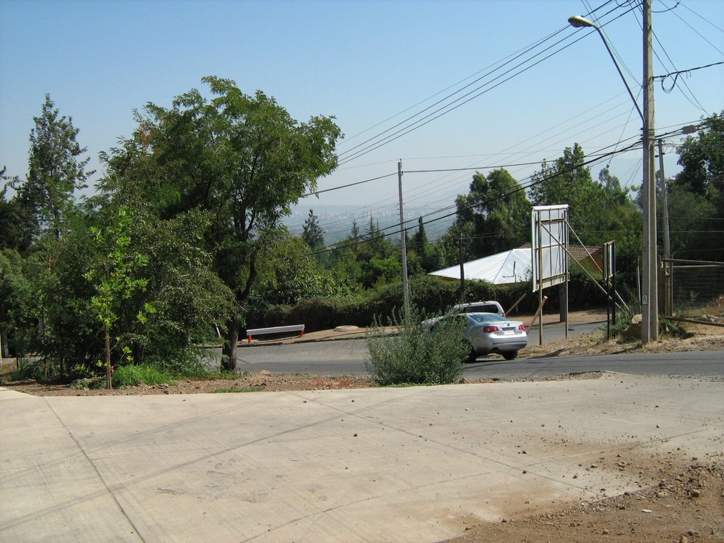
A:
[[[340,166],[308,209],[454,211],[474,172],[521,184],[579,143],[589,158],[641,135],[597,22],[641,104],[641,9],[628,0],[0,0],[0,167],[25,177],[33,117],[49,93],[92,167],[130,137],[134,110],[170,106],[205,75],[263,90],[300,122],[334,116]],[[654,114],[665,174],[681,127],[724,110],[724,2],[653,0]],[[696,70],[694,70],[696,69]],[[674,84],[675,83],[675,84]],[[416,123],[416,124],[413,124]],[[602,157],[641,184],[641,150]],[[344,185],[353,186],[342,188]],[[410,219],[406,216],[405,219]],[[350,223],[349,212],[337,222]],[[339,227],[326,218],[324,229]],[[300,219],[303,222],[303,218]]]

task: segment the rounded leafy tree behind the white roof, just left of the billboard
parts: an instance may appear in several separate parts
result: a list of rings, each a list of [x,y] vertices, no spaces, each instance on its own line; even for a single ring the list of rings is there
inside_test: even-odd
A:
[[[473,257],[515,248],[529,240],[531,204],[526,193],[505,169],[484,176],[476,172],[470,193],[456,200],[457,220],[472,225]]]

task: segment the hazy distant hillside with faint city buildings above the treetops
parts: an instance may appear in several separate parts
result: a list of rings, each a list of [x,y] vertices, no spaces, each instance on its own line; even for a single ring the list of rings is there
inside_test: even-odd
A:
[[[442,214],[434,214],[434,211],[440,209],[440,207],[439,203],[405,206],[405,222],[408,225],[408,235],[417,232],[419,216],[423,216],[423,221],[427,222],[450,213],[450,211],[445,211]],[[327,245],[347,237],[352,229],[354,219],[357,220],[361,232],[366,230],[370,215],[379,224],[380,230],[384,232],[392,232],[392,227],[400,223],[400,212],[397,211],[397,208],[360,211],[360,206],[314,206],[313,203],[306,203],[292,208],[292,214],[285,218],[284,224],[292,234],[301,234],[303,232],[304,222],[309,216],[310,209],[313,209],[314,214],[317,216],[319,226],[324,231],[324,243],[327,243]],[[430,240],[437,239],[450,227],[454,219],[455,216],[453,215],[425,224],[427,237]],[[390,228],[390,230],[386,230],[387,228]],[[397,234],[392,237],[399,239],[400,236]]]

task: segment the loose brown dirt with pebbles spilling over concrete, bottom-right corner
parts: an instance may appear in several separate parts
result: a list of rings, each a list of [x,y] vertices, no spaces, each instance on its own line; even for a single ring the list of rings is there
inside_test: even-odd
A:
[[[607,468],[633,471],[643,488],[500,523],[475,523],[447,543],[724,541],[723,463],[616,458]]]

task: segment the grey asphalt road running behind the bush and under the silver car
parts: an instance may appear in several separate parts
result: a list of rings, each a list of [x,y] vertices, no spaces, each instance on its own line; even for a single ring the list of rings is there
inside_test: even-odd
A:
[[[581,334],[601,327],[601,323],[569,327],[569,335]],[[547,326],[544,342],[563,337],[563,325]],[[530,334],[531,345],[537,345],[538,334]],[[337,340],[295,343],[290,345],[243,345],[237,352],[240,371],[268,370],[274,374],[345,375],[366,374],[368,356],[365,340]],[[551,358],[521,358],[505,361],[500,355],[481,357],[466,364],[467,379],[521,379],[545,377],[586,371],[616,371],[637,375],[724,375],[723,351],[688,353],[639,353]]]

